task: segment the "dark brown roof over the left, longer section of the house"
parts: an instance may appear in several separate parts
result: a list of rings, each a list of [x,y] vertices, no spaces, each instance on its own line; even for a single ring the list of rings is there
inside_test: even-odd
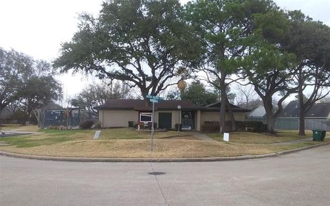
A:
[[[135,110],[135,111],[151,111],[152,104],[148,105],[148,100],[107,100],[105,104],[98,106],[98,109],[111,110]],[[199,110],[199,106],[188,100],[159,100],[155,104],[155,110],[177,110],[177,106],[181,106],[181,110]]]

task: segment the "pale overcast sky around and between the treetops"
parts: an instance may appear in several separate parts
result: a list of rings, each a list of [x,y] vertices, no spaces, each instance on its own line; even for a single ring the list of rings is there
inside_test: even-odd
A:
[[[181,0],[186,3],[188,0]],[[285,10],[301,10],[330,25],[330,0],[275,0]],[[54,60],[61,43],[77,31],[78,14],[98,14],[101,0],[0,0],[0,47],[36,59]],[[64,90],[78,93],[86,84],[81,76],[62,76]]]

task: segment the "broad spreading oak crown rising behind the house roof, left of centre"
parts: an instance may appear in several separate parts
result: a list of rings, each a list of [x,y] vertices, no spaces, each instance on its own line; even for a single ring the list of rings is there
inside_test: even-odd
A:
[[[105,1],[97,18],[80,16],[78,32],[54,65],[122,80],[144,98],[158,95],[199,53],[181,10],[177,0]]]

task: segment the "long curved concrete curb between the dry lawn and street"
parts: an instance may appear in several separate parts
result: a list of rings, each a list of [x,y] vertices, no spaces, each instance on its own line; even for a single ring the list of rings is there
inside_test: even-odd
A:
[[[81,162],[196,162],[196,161],[230,161],[230,160],[243,160],[243,159],[259,159],[265,157],[278,157],[279,155],[285,155],[292,152],[298,152],[300,150],[307,150],[309,148],[315,148],[318,146],[325,146],[330,142],[316,144],[312,146],[306,146],[303,148],[296,148],[293,150],[285,150],[276,153],[269,153],[265,155],[245,155],[236,157],[187,157],[187,158],[107,158],[107,157],[54,157],[54,156],[42,156],[42,155],[23,155],[12,152],[0,151],[0,155],[8,157],[19,157],[25,159],[39,159],[39,160],[52,160],[52,161],[81,161]]]

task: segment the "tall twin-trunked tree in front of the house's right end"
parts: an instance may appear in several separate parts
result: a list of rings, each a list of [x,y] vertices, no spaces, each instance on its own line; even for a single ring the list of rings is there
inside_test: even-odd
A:
[[[278,8],[272,1],[256,0],[197,0],[186,6],[186,19],[201,39],[203,65],[207,80],[221,93],[220,133],[224,131],[225,105],[230,111],[232,130],[234,115],[228,102],[226,88],[230,76],[243,66],[249,55],[250,36],[256,30],[255,16],[267,14]]]

